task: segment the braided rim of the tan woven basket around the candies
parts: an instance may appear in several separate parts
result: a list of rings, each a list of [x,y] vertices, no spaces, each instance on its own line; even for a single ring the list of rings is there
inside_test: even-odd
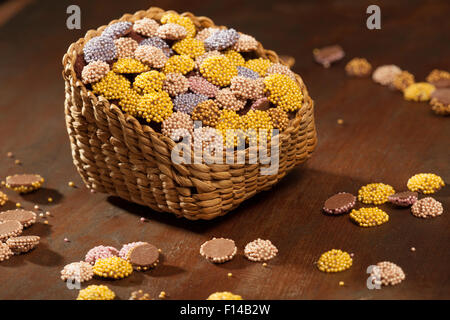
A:
[[[83,53],[83,47],[84,47],[85,43],[88,40],[90,40],[96,36],[99,36],[103,32],[103,30],[105,30],[109,25],[112,25],[112,24],[120,22],[120,21],[135,22],[136,20],[142,19],[144,17],[153,18],[155,14],[166,14],[166,13],[179,14],[177,11],[174,11],[174,10],[165,11],[159,7],[150,7],[148,10],[139,10],[139,11],[136,11],[134,14],[126,13],[126,14],[122,15],[122,17],[120,17],[119,19],[111,20],[107,25],[102,25],[102,26],[98,27],[97,29],[90,29],[86,32],[84,37],[79,38],[76,42],[72,43],[69,46],[66,54],[63,57],[62,64],[63,64],[64,69],[66,69],[65,70],[66,72],[67,72],[66,67],[67,67],[67,65],[69,65],[68,70],[70,71],[70,77],[72,79],[70,79],[70,77],[66,74],[66,72],[63,72],[63,78],[65,80],[70,81],[72,83],[72,85],[78,87],[89,99],[91,99],[93,101],[93,103],[95,105],[97,105],[97,106],[102,105],[103,108],[105,108],[105,109],[109,108],[112,112],[117,113],[119,116],[123,117],[123,119],[126,122],[129,122],[135,128],[140,129],[140,131],[143,134],[148,135],[149,137],[152,134],[157,135],[159,139],[161,139],[162,141],[167,143],[171,148],[173,148],[176,145],[176,142],[173,141],[171,138],[163,135],[160,132],[155,131],[150,125],[141,124],[134,116],[124,113],[119,106],[117,106],[114,103],[111,103],[105,97],[103,97],[101,95],[96,96],[91,90],[86,88],[86,86],[81,81],[81,79],[78,79],[77,74],[74,69],[75,61],[76,61],[78,55]],[[194,22],[196,27],[202,28],[202,22],[206,21],[206,23],[210,24],[210,26],[218,27],[218,28],[227,28],[226,26],[216,25],[214,23],[214,21],[208,17],[195,16],[191,12],[183,12],[179,15],[184,16],[184,17],[189,17]],[[278,54],[275,51],[264,49],[263,45],[259,41],[258,41],[258,49],[255,52],[259,57],[264,57],[264,58],[271,60],[274,63],[281,63],[281,64],[287,66],[287,64],[278,57]],[[289,136],[288,132],[293,130],[296,126],[299,125],[303,115],[307,112],[308,109],[312,108],[312,104],[313,104],[312,99],[309,96],[308,90],[306,88],[306,85],[303,82],[303,79],[301,78],[301,76],[299,74],[295,73],[294,71],[292,71],[292,72],[294,73],[295,79],[296,79],[297,83],[299,84],[300,89],[302,91],[303,104],[302,104],[302,107],[299,110],[297,110],[295,117],[293,119],[290,119],[289,126],[285,130],[283,130],[282,132],[280,132],[278,134],[280,145],[283,140],[288,138],[288,136]],[[268,141],[267,148],[270,150],[271,141]],[[246,155],[248,155],[249,150],[250,150],[250,148],[247,146],[245,148]],[[193,153],[193,150],[191,150],[191,152]],[[238,152],[238,150],[234,151],[235,155],[237,154],[237,152]],[[226,155],[224,154],[223,156],[225,158]]]

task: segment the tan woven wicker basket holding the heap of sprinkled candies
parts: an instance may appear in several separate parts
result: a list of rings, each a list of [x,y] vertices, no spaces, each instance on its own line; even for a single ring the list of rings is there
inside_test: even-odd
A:
[[[173,12],[173,11],[170,11]],[[136,21],[144,17],[159,20],[166,11],[152,7],[126,14],[119,20]],[[211,27],[206,17],[191,18],[197,27]],[[304,105],[279,136],[279,170],[261,175],[261,164],[189,164],[171,161],[175,143],[103,97],[86,89],[74,70],[77,55],[86,41],[106,28],[90,30],[73,43],[63,58],[65,116],[72,156],[89,189],[108,193],[145,205],[153,210],[172,212],[191,220],[212,219],[236,208],[256,193],[270,189],[287,172],[306,161],[316,145],[313,101],[296,75]],[[281,62],[277,54],[261,44],[257,54]],[[248,151],[248,150],[246,150]]]

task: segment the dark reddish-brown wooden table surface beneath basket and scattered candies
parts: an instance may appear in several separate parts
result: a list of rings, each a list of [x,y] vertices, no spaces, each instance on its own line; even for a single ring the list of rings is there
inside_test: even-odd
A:
[[[382,29],[375,31],[365,27],[372,1],[153,1],[209,16],[254,35],[266,48],[294,56],[294,70],[316,103],[319,144],[312,158],[272,190],[208,222],[152,212],[91,194],[82,185],[64,122],[62,56],[88,29],[146,9],[149,2],[76,2],[82,10],[82,30],[65,27],[71,4],[65,0],[35,1],[0,29],[0,176],[28,172],[46,179],[45,188],[25,196],[3,188],[11,199],[4,208],[20,202],[32,209],[37,203],[51,212],[48,225],[40,218],[25,232],[41,236],[41,244],[0,264],[0,299],[74,299],[78,291],[67,289],[59,279],[65,264],[82,260],[96,245],[120,248],[138,240],[162,249],[156,269],[120,281],[90,283],[107,284],[121,299],[135,289],[153,297],[166,291],[170,299],[205,299],[215,291],[232,291],[246,299],[450,298],[449,187],[433,195],[444,205],[444,214],[435,219],[418,219],[409,209],[385,204],[381,208],[389,213],[389,222],[364,229],[348,215],[321,212],[330,195],[356,194],[370,182],[401,191],[412,175],[433,172],[450,183],[449,119],[434,115],[427,103],[405,101],[399,92],[370,78],[349,78],[344,72],[345,63],[355,56],[367,58],[374,67],[399,65],[418,81],[434,68],[450,70],[448,1],[377,1]],[[312,50],[334,43],[344,47],[346,58],[330,69],[315,64]],[[340,118],[343,125],[337,124]],[[6,157],[9,151],[21,165]],[[77,188],[68,187],[68,181]],[[140,222],[142,216],[149,221]],[[200,245],[214,236],[236,241],[234,260],[213,265],[199,255]],[[70,242],[64,242],[66,237]],[[245,244],[256,238],[270,239],[279,249],[267,268],[243,257]],[[417,250],[411,252],[411,247]],[[350,270],[317,270],[314,262],[332,248],[354,253]],[[367,289],[366,268],[384,260],[400,265],[406,280],[395,287]]]

